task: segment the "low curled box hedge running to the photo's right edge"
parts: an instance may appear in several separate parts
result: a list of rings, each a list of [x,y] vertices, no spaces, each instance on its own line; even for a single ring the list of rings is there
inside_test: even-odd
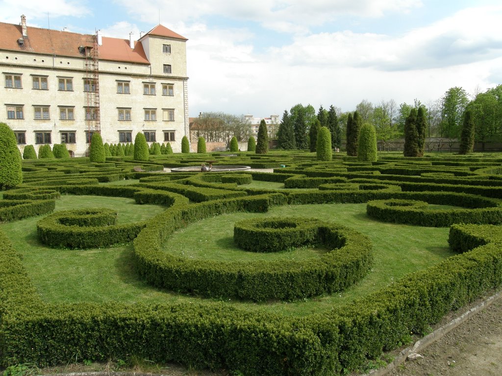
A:
[[[366,214],[379,221],[425,227],[502,223],[502,208],[430,210],[426,206],[414,200],[375,200],[367,203]]]

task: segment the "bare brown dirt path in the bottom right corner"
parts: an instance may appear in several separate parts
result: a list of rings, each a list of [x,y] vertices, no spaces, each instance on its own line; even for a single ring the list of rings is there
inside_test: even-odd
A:
[[[502,375],[502,299],[472,315],[388,376]]]

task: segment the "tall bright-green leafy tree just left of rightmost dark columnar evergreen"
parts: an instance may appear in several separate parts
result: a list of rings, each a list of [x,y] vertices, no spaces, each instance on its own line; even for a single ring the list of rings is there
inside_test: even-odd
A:
[[[465,107],[469,103],[467,93],[461,87],[448,89],[441,100],[441,137],[458,138]]]

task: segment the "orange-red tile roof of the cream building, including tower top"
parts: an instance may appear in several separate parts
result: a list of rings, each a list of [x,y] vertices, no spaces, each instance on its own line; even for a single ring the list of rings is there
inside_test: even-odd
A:
[[[58,30],[27,27],[28,38],[24,44],[18,43],[23,38],[20,25],[0,22],[0,50],[14,52],[32,52],[37,54],[57,55],[82,58],[80,46],[92,46],[93,35],[63,32]],[[147,34],[187,40],[168,28],[158,25]],[[103,44],[98,47],[99,59],[117,62],[149,64],[143,45],[135,42],[131,49],[128,39],[103,37]]]

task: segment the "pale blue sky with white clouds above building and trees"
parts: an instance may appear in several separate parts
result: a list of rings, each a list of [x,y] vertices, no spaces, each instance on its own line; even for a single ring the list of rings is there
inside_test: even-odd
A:
[[[0,22],[188,38],[190,116],[424,104],[502,83],[500,0],[0,0]],[[1,38],[1,36],[0,36]]]

